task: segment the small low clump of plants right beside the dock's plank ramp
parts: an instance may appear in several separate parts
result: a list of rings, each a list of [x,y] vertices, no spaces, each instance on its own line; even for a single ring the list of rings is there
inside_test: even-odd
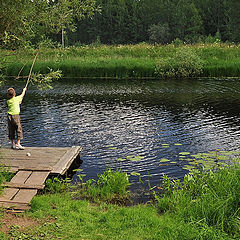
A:
[[[49,178],[45,182],[44,193],[62,193],[69,189],[69,179]]]

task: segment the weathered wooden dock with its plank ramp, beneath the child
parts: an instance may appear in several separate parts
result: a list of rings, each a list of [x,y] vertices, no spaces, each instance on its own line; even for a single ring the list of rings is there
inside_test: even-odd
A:
[[[82,148],[27,147],[25,150],[0,148],[0,164],[16,172],[9,183],[5,183],[0,207],[24,211],[30,209],[30,201],[49,174],[64,175],[79,156]]]

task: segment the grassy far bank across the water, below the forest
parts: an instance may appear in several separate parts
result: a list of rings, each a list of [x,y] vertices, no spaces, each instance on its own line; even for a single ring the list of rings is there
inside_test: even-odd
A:
[[[176,52],[181,49],[194,52],[199,57],[202,64],[200,77],[239,77],[240,75],[240,47],[228,44],[91,45],[65,49],[41,49],[34,71],[46,73],[48,68],[60,69],[65,77],[82,78],[159,78],[156,74],[159,63],[163,63],[160,68],[169,70],[172,67],[172,61],[176,58]],[[2,56],[10,55],[7,57],[6,74],[16,76],[24,64],[26,66],[22,75],[28,74],[35,51],[2,50],[0,53]],[[188,68],[189,65],[186,67]]]

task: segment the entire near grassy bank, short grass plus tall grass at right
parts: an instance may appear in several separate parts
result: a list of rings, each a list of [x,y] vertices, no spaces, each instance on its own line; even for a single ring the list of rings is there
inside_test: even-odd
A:
[[[162,187],[155,203],[133,207],[78,200],[77,191],[40,195],[25,213],[38,226],[15,225],[2,238],[239,239],[239,164],[194,171],[181,183],[165,176]]]

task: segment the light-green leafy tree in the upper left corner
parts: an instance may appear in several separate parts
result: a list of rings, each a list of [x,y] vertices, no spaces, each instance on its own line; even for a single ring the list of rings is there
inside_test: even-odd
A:
[[[0,45],[16,48],[49,33],[63,35],[96,11],[95,0],[0,0]]]

